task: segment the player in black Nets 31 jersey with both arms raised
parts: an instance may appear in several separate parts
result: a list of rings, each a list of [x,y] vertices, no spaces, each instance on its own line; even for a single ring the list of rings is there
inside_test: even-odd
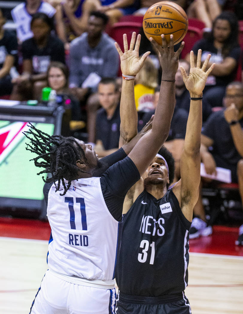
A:
[[[163,39],[162,46],[153,40],[152,44],[163,69],[163,51],[167,49],[167,43]],[[127,46],[126,38],[124,46]],[[138,71],[132,63],[134,52],[125,50],[124,54],[121,51],[119,54],[122,73],[135,76]],[[161,150],[147,168],[144,181],[141,179],[133,186],[124,202],[124,224],[116,270],[119,287],[117,314],[191,313],[184,294],[188,282],[189,229],[200,183],[202,91],[214,67],[214,64],[207,67],[208,55],[201,68],[201,54],[199,50],[194,65],[191,51],[189,76],[180,67],[191,96],[181,155],[181,179],[168,189],[173,180],[173,170],[168,166],[171,157],[165,156]],[[174,80],[174,73],[167,79]],[[161,86],[163,84],[162,77]],[[136,132],[135,119],[130,118],[132,112],[135,114],[134,80],[123,80],[121,134],[126,134],[128,139]],[[160,123],[164,122],[165,117],[162,117]]]

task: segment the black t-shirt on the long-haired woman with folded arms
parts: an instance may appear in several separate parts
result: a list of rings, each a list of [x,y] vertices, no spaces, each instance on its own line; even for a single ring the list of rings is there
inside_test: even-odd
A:
[[[223,60],[223,56],[221,55],[220,51],[213,46],[212,41],[208,41],[206,39],[201,39],[197,41],[192,48],[195,55],[197,55],[198,49],[202,49],[202,61],[204,61],[208,53],[211,53],[210,62],[221,63]],[[240,58],[240,46],[232,48],[229,51],[229,54],[227,57],[234,58],[236,63],[238,63],[239,58]],[[237,71],[237,66],[235,66],[235,69],[229,75],[215,76],[216,84],[214,85],[226,86],[227,84],[229,84],[230,82],[234,80],[236,71]]]

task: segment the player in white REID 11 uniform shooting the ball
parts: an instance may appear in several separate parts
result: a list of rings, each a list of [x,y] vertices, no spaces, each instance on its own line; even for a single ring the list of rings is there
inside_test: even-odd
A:
[[[135,38],[130,51],[138,54],[140,35],[135,49],[134,45]],[[114,313],[114,271],[123,201],[168,137],[175,105],[174,78],[183,45],[177,52],[173,38],[169,48],[163,45],[163,84],[151,130],[131,151],[124,146],[114,153],[120,161],[100,177],[98,156],[91,145],[72,137],[49,136],[32,125],[25,133],[30,139],[27,149],[37,154],[33,158],[35,165],[44,168],[40,174],[51,174],[43,190],[52,230],[47,254],[49,270],[31,314]],[[128,51],[128,46],[124,49]],[[148,54],[135,59],[133,66],[139,70]]]

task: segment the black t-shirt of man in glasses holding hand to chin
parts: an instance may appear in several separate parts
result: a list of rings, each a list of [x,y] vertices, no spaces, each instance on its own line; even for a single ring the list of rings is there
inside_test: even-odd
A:
[[[243,128],[243,118],[239,121]],[[242,158],[235,148],[224,111],[213,112],[202,128],[202,134],[213,140],[213,154],[218,155],[228,164],[236,165]]]

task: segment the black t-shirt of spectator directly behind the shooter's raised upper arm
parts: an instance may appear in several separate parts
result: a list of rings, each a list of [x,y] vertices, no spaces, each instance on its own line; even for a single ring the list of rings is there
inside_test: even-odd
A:
[[[150,120],[154,112],[155,111],[149,111],[149,112],[144,113],[142,117],[143,123],[139,124],[138,126],[139,131]],[[185,109],[178,108],[177,106],[175,106],[174,114],[172,116],[171,123],[170,123],[169,135],[166,141],[171,141],[173,139],[178,139],[178,138],[182,138],[182,139],[185,138],[187,118],[188,118],[188,112]]]

